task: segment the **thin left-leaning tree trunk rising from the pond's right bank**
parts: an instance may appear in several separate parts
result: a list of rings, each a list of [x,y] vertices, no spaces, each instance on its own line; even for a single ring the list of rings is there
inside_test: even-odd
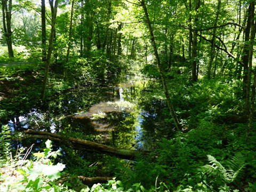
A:
[[[155,53],[155,57],[156,57],[156,60],[157,60],[157,66],[158,66],[158,70],[159,70],[159,73],[160,73],[160,76],[161,76],[161,79],[162,79],[162,85],[163,85],[165,97],[166,97],[166,100],[167,100],[167,105],[168,105],[168,107],[170,109],[170,113],[172,115],[172,118],[173,118],[173,121],[174,121],[176,129],[177,130],[181,130],[180,123],[179,123],[178,118],[177,118],[177,116],[175,114],[175,111],[173,109],[171,98],[170,98],[170,95],[169,95],[169,92],[168,92],[168,89],[167,89],[167,85],[166,85],[165,77],[164,77],[164,74],[163,74],[163,69],[162,69],[161,61],[160,61],[160,58],[159,58],[159,55],[158,55],[158,51],[157,51],[157,46],[156,46],[156,42],[155,42],[155,36],[154,36],[153,29],[151,27],[151,22],[150,22],[149,16],[148,16],[148,10],[147,10],[147,7],[145,5],[145,1],[144,0],[141,0],[140,3],[141,3],[141,5],[143,7],[143,10],[145,12],[145,16],[146,16],[146,20],[147,20],[147,24],[148,24],[148,29],[149,29],[149,33],[150,33],[150,36],[151,36],[151,43],[152,43],[153,48],[154,48],[154,53]]]

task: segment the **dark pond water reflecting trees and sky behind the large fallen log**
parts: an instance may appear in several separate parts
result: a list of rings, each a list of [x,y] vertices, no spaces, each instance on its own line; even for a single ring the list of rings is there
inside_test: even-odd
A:
[[[172,129],[165,121],[166,103],[136,83],[128,79],[119,84],[79,87],[59,95],[46,109],[38,107],[12,117],[8,124],[12,131],[79,133],[114,147],[151,150],[157,141],[170,137]]]

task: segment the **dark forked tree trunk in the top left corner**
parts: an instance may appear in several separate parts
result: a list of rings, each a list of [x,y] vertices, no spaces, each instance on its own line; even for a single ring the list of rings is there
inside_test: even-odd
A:
[[[11,20],[12,20],[12,0],[2,0],[2,12],[3,12],[3,28],[4,28],[4,37],[6,39],[7,49],[9,58],[13,58],[13,49],[12,49],[12,29],[11,29]]]

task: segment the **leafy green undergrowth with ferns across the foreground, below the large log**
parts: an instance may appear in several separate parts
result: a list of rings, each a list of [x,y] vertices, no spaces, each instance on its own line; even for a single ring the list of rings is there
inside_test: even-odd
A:
[[[89,162],[76,160],[72,169],[65,168],[57,158],[60,149],[53,151],[50,141],[43,152],[33,154],[34,158],[26,159],[30,149],[23,148],[13,158],[10,131],[3,126],[0,185],[4,191],[255,191],[256,135],[245,141],[244,129],[241,124],[221,134],[223,127],[202,121],[198,129],[178,132],[173,139],[158,142],[158,149],[147,157],[137,156],[135,161],[109,158],[104,166],[108,165],[108,172],[115,173],[115,178],[85,186],[74,180],[75,169],[90,177],[90,172],[98,171]],[[73,158],[77,155],[74,153]],[[60,184],[62,177],[69,179]]]

